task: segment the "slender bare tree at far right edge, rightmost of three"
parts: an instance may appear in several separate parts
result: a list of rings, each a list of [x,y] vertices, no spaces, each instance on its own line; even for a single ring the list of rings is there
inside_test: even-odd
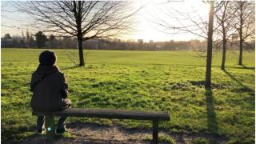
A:
[[[237,19],[234,27],[238,30],[239,35],[239,60],[238,64],[242,65],[243,43],[255,35],[255,3],[239,1],[236,2]]]

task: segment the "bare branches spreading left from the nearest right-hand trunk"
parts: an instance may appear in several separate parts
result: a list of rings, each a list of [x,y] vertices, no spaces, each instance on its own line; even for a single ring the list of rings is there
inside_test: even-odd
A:
[[[171,1],[160,3],[165,9],[160,10],[162,15],[167,18],[161,18],[159,15],[151,14],[154,18],[154,24],[157,30],[166,34],[194,34],[198,38],[207,38],[208,22],[206,18],[198,14],[198,9],[191,7],[190,10],[178,10],[172,7]]]

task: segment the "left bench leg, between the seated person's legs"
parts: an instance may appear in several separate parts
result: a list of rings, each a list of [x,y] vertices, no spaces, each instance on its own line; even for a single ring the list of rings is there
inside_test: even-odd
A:
[[[55,136],[54,116],[46,115],[46,137],[52,141]]]

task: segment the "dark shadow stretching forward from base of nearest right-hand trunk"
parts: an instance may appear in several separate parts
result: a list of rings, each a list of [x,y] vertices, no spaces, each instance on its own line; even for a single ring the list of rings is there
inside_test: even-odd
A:
[[[213,134],[218,134],[218,122],[216,120],[216,113],[214,110],[214,98],[212,90],[206,89],[206,110],[208,119],[208,129]]]

